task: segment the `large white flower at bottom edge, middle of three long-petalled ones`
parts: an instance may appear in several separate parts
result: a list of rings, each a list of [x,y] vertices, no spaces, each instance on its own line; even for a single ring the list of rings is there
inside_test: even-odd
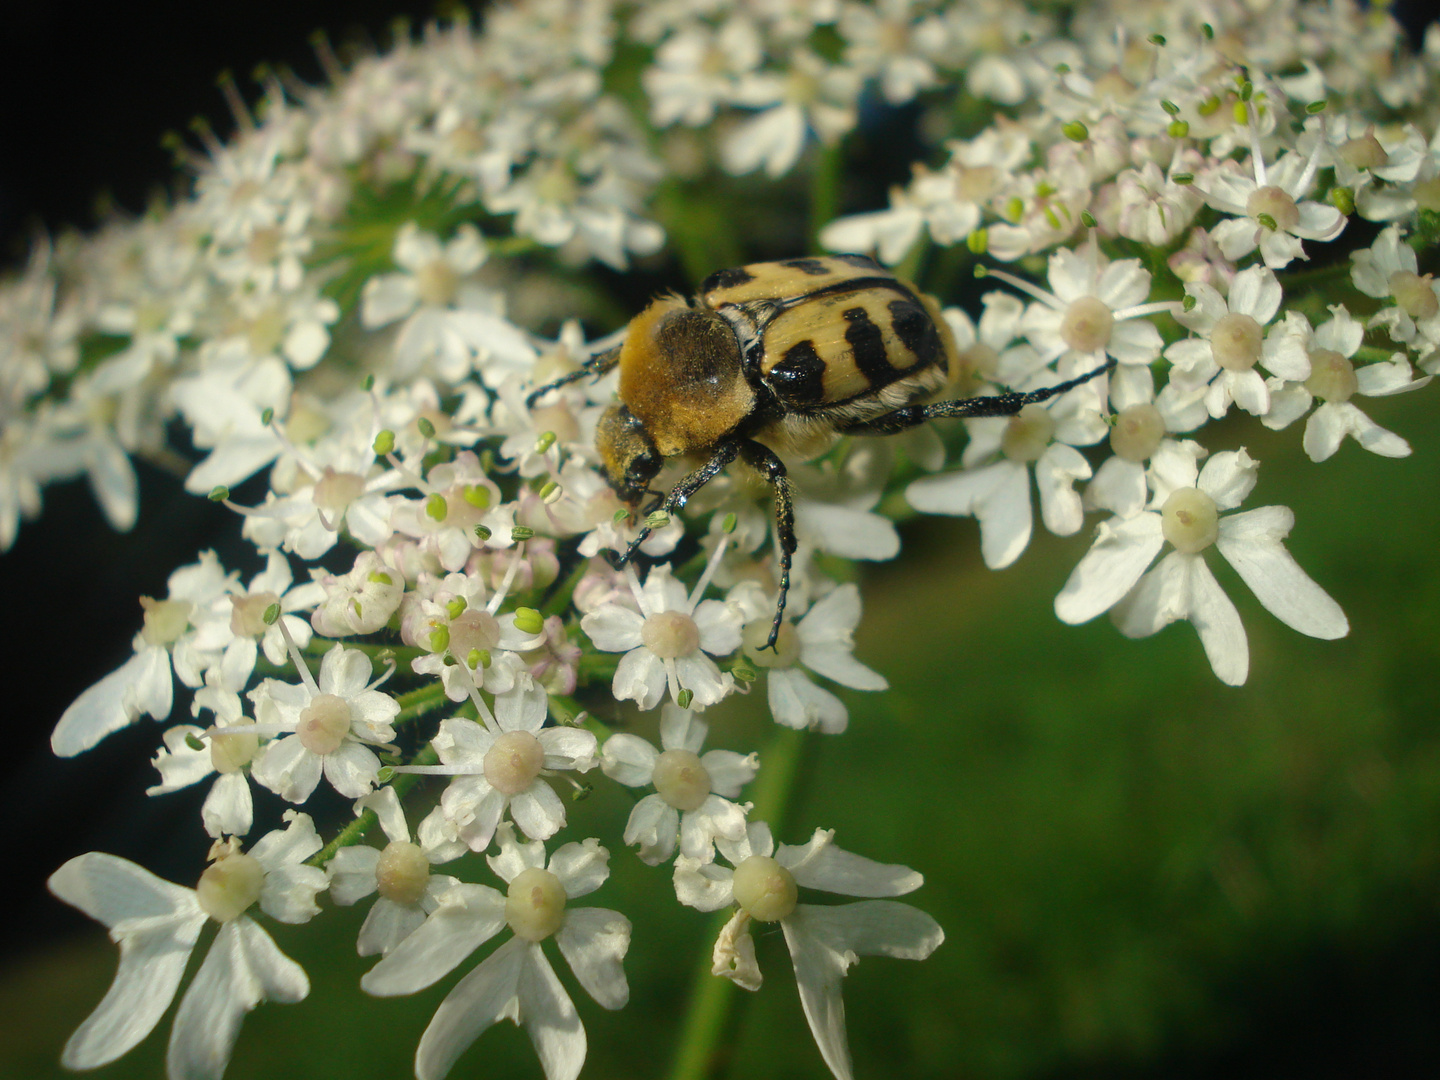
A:
[[[360,986],[367,994],[413,994],[444,978],[507,924],[514,937],[495,949],[449,992],[415,1053],[418,1080],[441,1080],[455,1060],[500,1020],[524,1027],[546,1080],[575,1080],[585,1064],[585,1028],[540,943],[554,937],[575,978],[602,1007],[629,999],[621,962],[631,924],[619,912],[569,907],[609,876],[609,852],[588,840],[566,844],[544,858],[540,841],[517,844],[508,825],[498,832],[500,852],[488,857],[508,886],[501,896],[488,886],[459,884],[439,897],[425,923],[372,968]]]

